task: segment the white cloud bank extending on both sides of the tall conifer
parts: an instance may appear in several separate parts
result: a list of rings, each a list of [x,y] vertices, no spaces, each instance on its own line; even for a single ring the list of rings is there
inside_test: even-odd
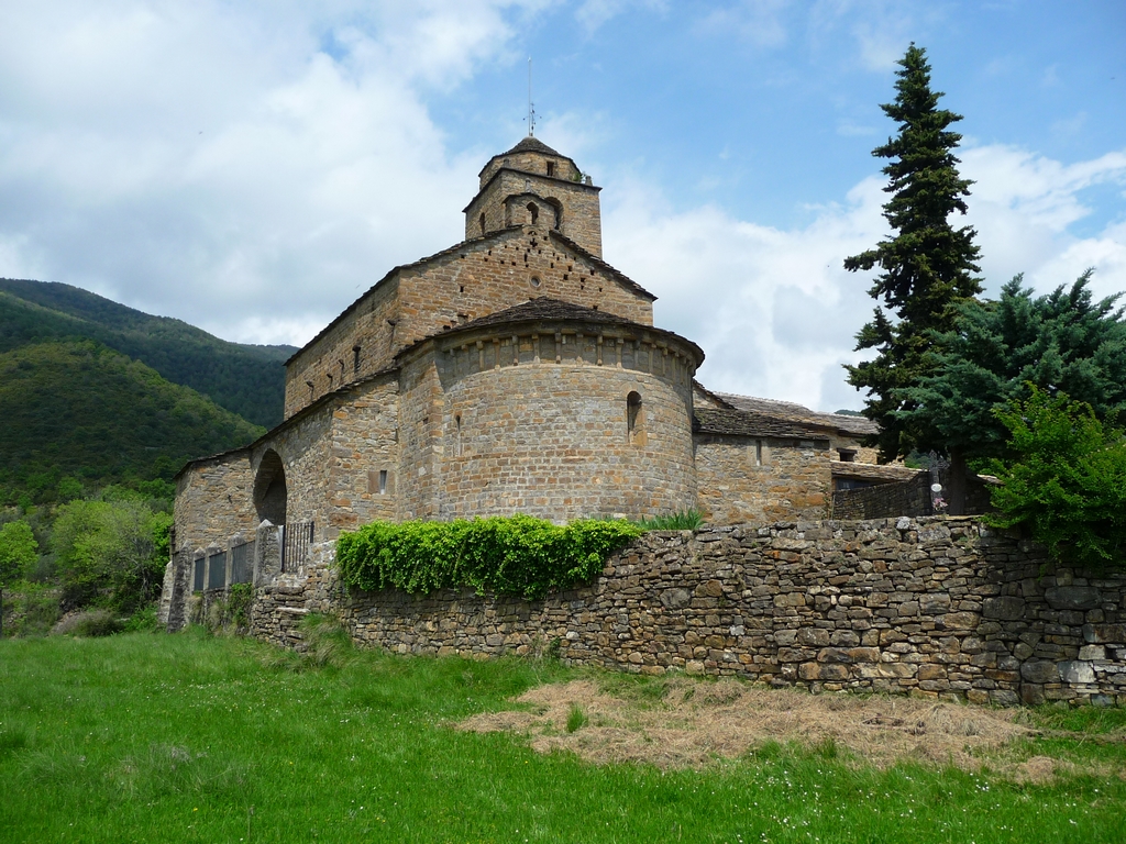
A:
[[[992,293],[1027,271],[1038,290],[1070,284],[1097,268],[1100,296],[1126,289],[1126,221],[1097,236],[1069,226],[1087,214],[1085,188],[1126,176],[1126,154],[1064,165],[1009,146],[963,155],[977,180],[967,222],[978,231]],[[661,298],[656,322],[699,343],[700,378],[716,389],[801,402],[823,410],[857,407],[844,383],[856,362],[855,334],[870,318],[872,273],[842,261],[887,233],[881,177],[865,179],[843,205],[817,209],[807,226],[779,231],[735,219],[714,207],[673,212],[638,183],[607,209],[607,258]],[[624,188],[624,189],[623,189]],[[957,219],[953,221],[955,224]]]

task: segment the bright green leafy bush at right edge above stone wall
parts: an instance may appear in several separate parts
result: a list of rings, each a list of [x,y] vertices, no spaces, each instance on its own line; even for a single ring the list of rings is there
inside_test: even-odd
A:
[[[1053,559],[1080,565],[1126,562],[1126,439],[1093,408],[1029,388],[997,412],[1015,458],[994,461],[999,527],[1024,526]]]

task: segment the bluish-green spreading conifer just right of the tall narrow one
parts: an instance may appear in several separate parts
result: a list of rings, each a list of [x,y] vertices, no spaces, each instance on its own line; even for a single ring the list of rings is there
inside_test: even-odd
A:
[[[1088,270],[1065,289],[1034,296],[1018,276],[995,302],[958,306],[955,330],[933,335],[932,372],[901,393],[901,419],[926,443],[967,459],[1012,456],[998,415],[1039,388],[1126,422],[1126,321],[1121,294],[1096,302]]]

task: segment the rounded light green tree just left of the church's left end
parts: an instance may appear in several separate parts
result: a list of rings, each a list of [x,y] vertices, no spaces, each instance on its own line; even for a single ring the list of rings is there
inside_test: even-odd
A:
[[[140,497],[73,501],[59,508],[51,544],[63,601],[132,612],[155,600],[172,517]]]

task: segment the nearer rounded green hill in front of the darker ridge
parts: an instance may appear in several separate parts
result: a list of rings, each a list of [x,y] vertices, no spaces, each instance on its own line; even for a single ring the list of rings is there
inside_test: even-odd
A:
[[[0,483],[45,488],[168,479],[188,459],[265,433],[193,389],[92,341],[0,354]]]

